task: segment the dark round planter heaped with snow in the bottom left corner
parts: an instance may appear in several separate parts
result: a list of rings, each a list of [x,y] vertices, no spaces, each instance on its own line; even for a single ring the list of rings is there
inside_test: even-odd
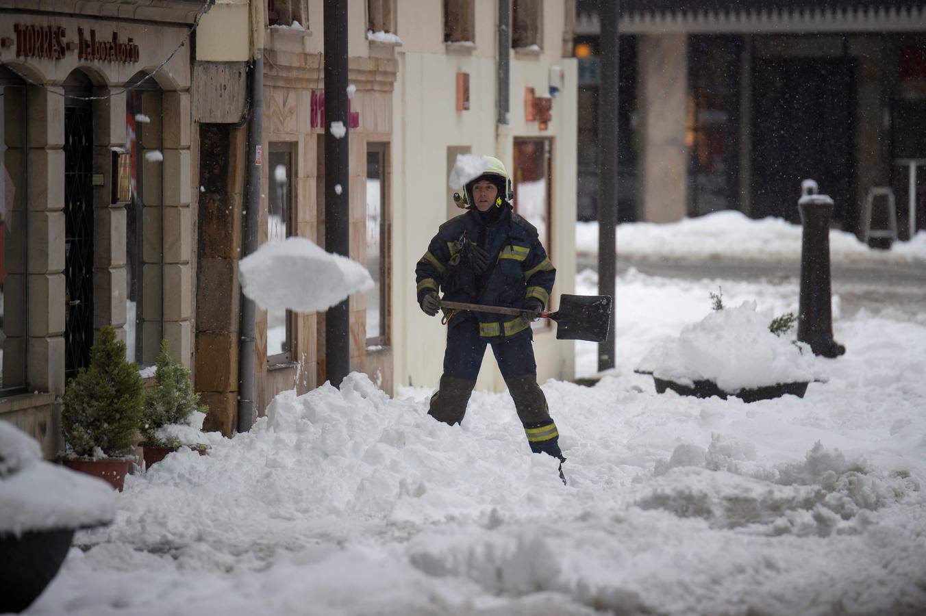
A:
[[[55,577],[74,531],[112,522],[112,487],[42,459],[39,444],[0,421],[0,612],[28,608]]]

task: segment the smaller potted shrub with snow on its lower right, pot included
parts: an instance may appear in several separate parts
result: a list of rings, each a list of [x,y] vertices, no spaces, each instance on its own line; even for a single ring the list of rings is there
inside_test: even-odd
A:
[[[203,419],[208,407],[194,392],[190,370],[170,356],[167,340],[161,340],[157,355],[155,385],[145,391],[142,412],[144,465],[160,462],[183,446],[203,455]]]

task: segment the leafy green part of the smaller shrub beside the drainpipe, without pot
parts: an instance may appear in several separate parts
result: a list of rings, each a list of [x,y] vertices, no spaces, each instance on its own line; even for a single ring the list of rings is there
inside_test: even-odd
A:
[[[168,341],[161,340],[155,386],[149,388],[144,396],[144,442],[159,447],[170,446],[171,443],[157,437],[157,430],[168,424],[183,424],[191,414],[196,411],[206,413],[207,408],[199,403],[199,394],[193,390],[189,369],[170,356]]]

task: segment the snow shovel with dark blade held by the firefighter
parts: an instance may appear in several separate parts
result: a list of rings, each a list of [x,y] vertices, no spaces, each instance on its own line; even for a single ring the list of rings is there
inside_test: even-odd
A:
[[[441,302],[441,307],[515,316],[526,312],[519,308],[486,306],[479,303]],[[539,316],[557,322],[557,339],[604,342],[611,328],[611,296],[560,295],[559,310],[555,313],[544,310]]]

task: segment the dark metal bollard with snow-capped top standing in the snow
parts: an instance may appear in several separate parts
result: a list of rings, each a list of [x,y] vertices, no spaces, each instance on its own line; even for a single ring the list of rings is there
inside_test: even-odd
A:
[[[832,289],[830,283],[830,219],[832,199],[818,194],[817,182],[801,182],[801,297],[797,315],[797,339],[807,342],[815,355],[838,357],[845,347],[832,339]]]

